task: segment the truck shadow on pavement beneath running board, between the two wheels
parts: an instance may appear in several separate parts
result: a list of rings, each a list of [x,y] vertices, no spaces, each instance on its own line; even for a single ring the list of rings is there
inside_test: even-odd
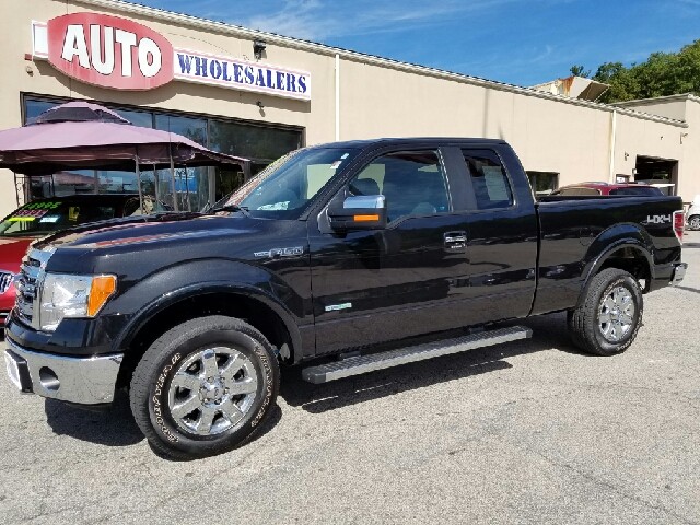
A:
[[[516,355],[545,350],[587,355],[571,342],[565,314],[533,317],[520,324],[533,329],[532,339],[419,361],[320,385],[303,381],[301,368],[288,369],[282,372],[280,396],[291,406],[322,413],[436,383],[512,369],[513,365],[505,360]]]

